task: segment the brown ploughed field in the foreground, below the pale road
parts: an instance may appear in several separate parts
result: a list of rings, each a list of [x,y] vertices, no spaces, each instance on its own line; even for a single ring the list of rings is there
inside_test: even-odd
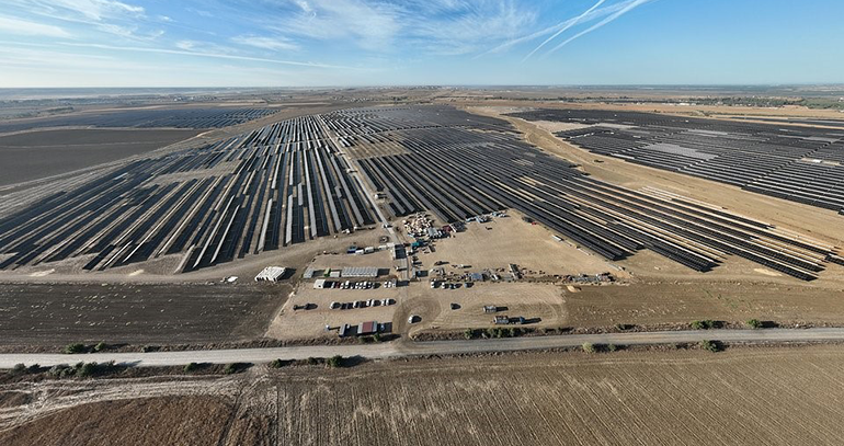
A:
[[[842,380],[834,345],[47,380],[0,388],[31,399],[0,409],[0,443],[837,445]]]

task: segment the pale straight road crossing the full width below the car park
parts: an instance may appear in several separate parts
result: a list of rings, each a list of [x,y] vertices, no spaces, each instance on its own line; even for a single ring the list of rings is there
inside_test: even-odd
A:
[[[151,353],[93,353],[85,355],[64,354],[0,354],[0,368],[15,364],[53,366],[80,361],[136,366],[174,366],[187,363],[269,363],[273,359],[306,359],[334,355],[361,356],[383,359],[419,355],[452,355],[488,352],[513,352],[577,347],[583,343],[617,345],[655,345],[694,343],[702,340],[722,342],[785,343],[785,342],[841,342],[844,328],[768,329],[768,330],[694,330],[643,333],[571,334],[558,336],[512,338],[471,341],[390,342],[362,345],[290,346],[273,348],[206,350],[187,352]]]

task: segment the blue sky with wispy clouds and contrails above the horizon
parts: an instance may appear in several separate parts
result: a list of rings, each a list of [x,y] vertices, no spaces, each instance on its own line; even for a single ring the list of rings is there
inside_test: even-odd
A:
[[[844,82],[841,0],[2,0],[0,87]]]

